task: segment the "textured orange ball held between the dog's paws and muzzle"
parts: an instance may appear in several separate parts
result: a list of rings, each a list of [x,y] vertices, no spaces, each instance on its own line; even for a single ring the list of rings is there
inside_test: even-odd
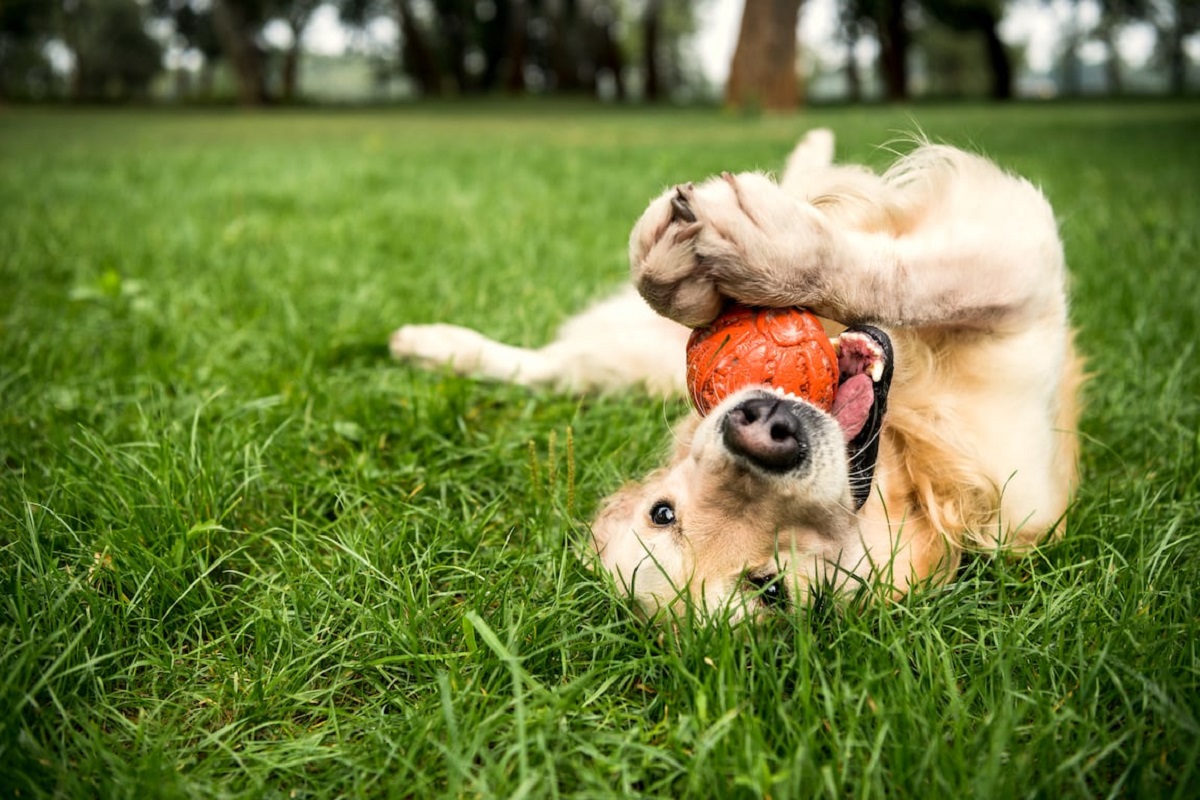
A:
[[[728,306],[688,339],[688,391],[701,416],[745,386],[766,384],[828,411],[838,354],[816,314],[803,308]]]

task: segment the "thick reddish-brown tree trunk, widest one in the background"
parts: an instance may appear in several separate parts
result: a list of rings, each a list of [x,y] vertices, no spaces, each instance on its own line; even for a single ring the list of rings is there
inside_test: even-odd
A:
[[[742,30],[730,64],[725,102],[794,110],[800,102],[796,73],[796,25],[800,0],[746,0]]]

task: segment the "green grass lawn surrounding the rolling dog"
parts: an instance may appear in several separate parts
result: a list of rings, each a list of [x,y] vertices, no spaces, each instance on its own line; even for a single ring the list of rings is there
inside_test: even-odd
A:
[[[1067,541],[638,621],[575,547],[678,405],[540,343],[670,182],[918,126],[1042,185],[1097,378]],[[0,112],[0,796],[1195,796],[1200,107]]]

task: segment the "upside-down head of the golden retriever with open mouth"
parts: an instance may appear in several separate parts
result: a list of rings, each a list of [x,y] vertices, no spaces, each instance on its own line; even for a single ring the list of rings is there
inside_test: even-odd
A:
[[[839,342],[832,411],[751,386],[679,434],[671,462],[611,497],[593,523],[601,564],[647,613],[691,602],[738,619],[804,602],[863,558],[856,513],[870,494],[892,380],[882,331]]]

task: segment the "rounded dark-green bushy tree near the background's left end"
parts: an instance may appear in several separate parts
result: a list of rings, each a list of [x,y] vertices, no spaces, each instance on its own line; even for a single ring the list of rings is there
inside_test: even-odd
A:
[[[76,0],[59,8],[59,32],[74,56],[73,100],[131,100],[149,95],[162,71],[162,46],[146,32],[134,0]]]

